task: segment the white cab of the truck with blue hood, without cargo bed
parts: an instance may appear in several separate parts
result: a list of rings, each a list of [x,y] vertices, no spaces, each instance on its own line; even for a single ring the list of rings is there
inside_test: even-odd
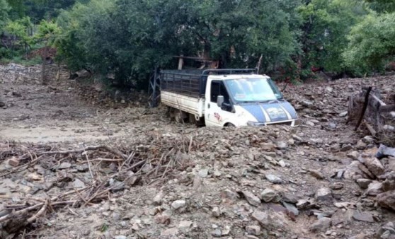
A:
[[[258,74],[207,78],[207,126],[295,125],[297,113],[270,77]]]

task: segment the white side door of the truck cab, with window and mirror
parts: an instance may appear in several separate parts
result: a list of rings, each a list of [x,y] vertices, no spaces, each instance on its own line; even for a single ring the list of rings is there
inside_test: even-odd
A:
[[[206,93],[206,96],[208,97],[205,101],[206,125],[222,127],[224,123],[229,122],[231,117],[234,117],[234,113],[231,112],[231,100],[227,89],[224,86],[224,81],[211,81],[206,92],[208,92]],[[218,107],[217,105],[218,95],[224,96],[224,104],[222,107]]]

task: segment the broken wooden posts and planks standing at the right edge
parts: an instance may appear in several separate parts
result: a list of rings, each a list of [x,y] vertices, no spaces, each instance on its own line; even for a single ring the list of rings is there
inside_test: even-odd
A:
[[[361,126],[387,146],[395,146],[395,92],[380,93],[379,89],[364,87],[348,101],[348,122]]]

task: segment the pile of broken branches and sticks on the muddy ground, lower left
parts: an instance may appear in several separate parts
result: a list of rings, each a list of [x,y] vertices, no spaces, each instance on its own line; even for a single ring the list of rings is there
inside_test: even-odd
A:
[[[161,143],[69,150],[58,145],[0,143],[0,163],[8,165],[0,170],[2,180],[27,180],[40,185],[51,181],[43,190],[32,188],[18,197],[0,194],[0,238],[21,234],[26,227],[40,223],[45,215],[57,209],[72,212],[74,207],[110,199],[113,193],[135,185],[164,182],[176,170],[191,165],[188,153],[195,148],[193,139]],[[76,180],[79,185],[70,187]]]

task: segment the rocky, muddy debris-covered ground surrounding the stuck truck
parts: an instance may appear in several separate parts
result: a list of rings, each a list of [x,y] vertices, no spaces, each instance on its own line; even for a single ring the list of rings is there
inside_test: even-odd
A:
[[[209,129],[1,67],[0,238],[395,236],[394,158],[345,124],[394,76],[288,87],[299,127]]]

